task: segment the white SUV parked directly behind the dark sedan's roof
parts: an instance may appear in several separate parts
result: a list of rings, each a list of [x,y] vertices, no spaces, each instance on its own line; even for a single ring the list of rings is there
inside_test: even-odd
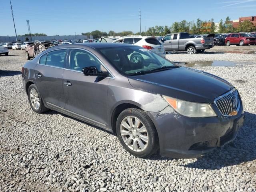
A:
[[[159,42],[155,37],[152,36],[141,36],[141,35],[132,35],[120,37],[117,40],[114,40],[113,43],[126,43],[141,46],[145,49],[148,49],[162,57],[166,56],[164,46]],[[141,57],[134,58],[135,60],[140,60]]]

